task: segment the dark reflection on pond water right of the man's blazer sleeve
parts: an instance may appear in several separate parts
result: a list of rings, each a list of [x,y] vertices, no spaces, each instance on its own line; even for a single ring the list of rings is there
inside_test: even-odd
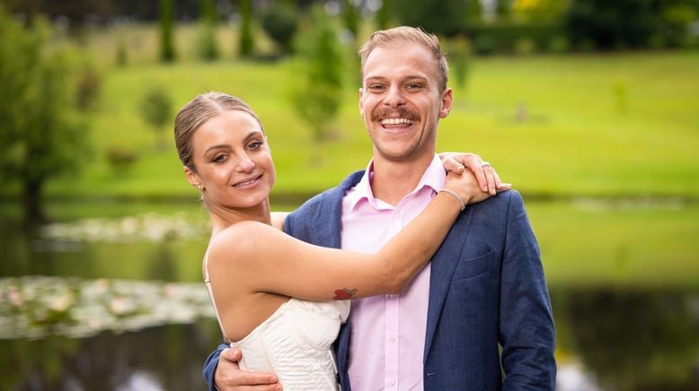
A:
[[[559,346],[603,389],[699,387],[699,295],[600,289],[551,292]]]

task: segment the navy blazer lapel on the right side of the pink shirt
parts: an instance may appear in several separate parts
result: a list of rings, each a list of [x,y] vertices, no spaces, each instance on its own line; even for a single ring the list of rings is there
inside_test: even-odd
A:
[[[427,330],[425,332],[425,352],[422,363],[427,362],[429,347],[437,330],[439,315],[442,313],[444,301],[451,283],[452,275],[459,263],[466,242],[468,227],[471,224],[471,213],[463,213],[454,223],[442,242],[437,254],[432,257],[429,272],[429,304],[427,311]]]

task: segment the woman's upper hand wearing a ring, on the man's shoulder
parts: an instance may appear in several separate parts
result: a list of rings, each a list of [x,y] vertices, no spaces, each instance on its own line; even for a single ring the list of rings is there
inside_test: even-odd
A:
[[[444,169],[447,169],[447,171],[461,174],[464,172],[464,169],[470,169],[478,181],[478,186],[491,196],[495,196],[499,191],[512,188],[512,185],[509,183],[502,183],[498,173],[491,167],[491,164],[483,161],[475,153],[442,152],[438,153],[438,156],[444,165]]]

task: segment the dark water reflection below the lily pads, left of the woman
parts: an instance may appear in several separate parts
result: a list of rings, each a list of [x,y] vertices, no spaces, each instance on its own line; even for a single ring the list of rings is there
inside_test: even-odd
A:
[[[206,389],[201,368],[219,341],[216,322],[82,339],[0,340],[0,389]]]

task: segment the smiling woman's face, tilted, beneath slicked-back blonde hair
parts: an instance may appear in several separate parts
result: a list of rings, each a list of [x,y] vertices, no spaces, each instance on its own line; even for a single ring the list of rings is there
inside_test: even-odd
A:
[[[274,163],[267,139],[254,117],[228,110],[199,126],[192,136],[193,163],[185,168],[195,187],[203,187],[211,208],[246,209],[267,200],[274,185]]]

